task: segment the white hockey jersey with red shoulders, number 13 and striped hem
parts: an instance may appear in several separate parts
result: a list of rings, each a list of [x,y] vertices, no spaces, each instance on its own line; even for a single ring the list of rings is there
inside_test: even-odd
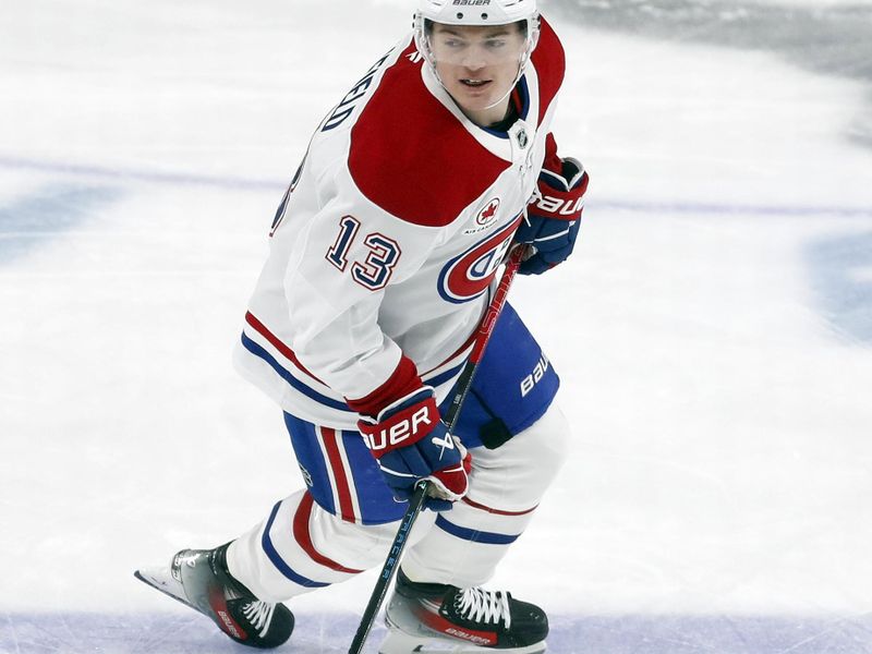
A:
[[[412,37],[322,122],[276,215],[234,361],[288,413],[353,429],[399,370],[449,392],[536,187],[562,83],[543,20],[508,132],[463,116]],[[553,143],[553,140],[552,140]]]

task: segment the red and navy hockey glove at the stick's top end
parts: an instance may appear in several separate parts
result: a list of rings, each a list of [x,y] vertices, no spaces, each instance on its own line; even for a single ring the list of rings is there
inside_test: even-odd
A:
[[[528,207],[528,218],[514,234],[519,243],[535,249],[518,268],[521,275],[542,275],[565,262],[576,246],[588,191],[588,173],[576,159],[560,159],[561,170],[545,168]]]

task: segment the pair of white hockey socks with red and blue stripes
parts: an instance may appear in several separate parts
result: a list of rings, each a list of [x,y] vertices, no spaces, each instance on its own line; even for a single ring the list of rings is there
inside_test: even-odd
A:
[[[488,581],[560,469],[568,435],[566,417],[552,404],[499,448],[473,449],[468,496],[450,511],[421,514],[403,572],[460,588]],[[261,600],[281,602],[382,566],[397,528],[343,520],[300,491],[230,545],[228,567]]]

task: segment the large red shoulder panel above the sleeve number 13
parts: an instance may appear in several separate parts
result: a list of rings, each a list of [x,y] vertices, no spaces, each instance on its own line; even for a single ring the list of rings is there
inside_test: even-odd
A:
[[[485,149],[421,77],[414,43],[385,71],[351,129],[349,170],[389,214],[444,227],[494,183],[508,162]]]

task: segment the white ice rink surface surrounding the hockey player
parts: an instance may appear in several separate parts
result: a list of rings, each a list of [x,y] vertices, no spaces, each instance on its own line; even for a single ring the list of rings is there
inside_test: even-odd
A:
[[[0,652],[239,650],[131,572],[301,485],[229,352],[310,132],[410,5],[2,11]],[[495,585],[554,652],[872,651],[872,3],[543,5],[591,197],[512,302],[576,443]],[[295,600],[288,651],[346,651],[372,583]]]

